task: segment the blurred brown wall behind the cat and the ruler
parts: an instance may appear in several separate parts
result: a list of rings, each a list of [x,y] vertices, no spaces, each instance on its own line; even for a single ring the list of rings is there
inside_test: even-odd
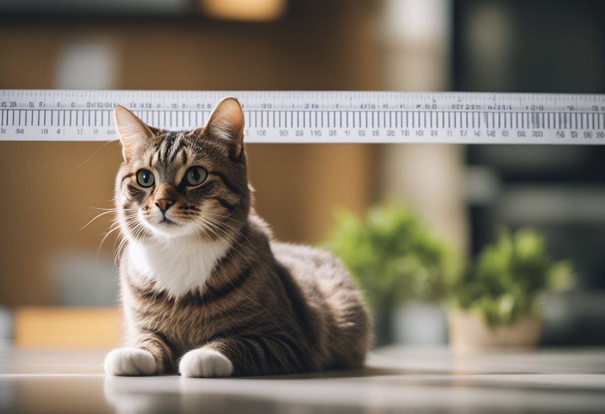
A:
[[[52,88],[65,45],[101,39],[117,53],[114,88],[376,89],[368,2],[309,4],[270,24],[15,20],[0,27],[0,88]],[[110,143],[94,154],[100,146],[0,142],[0,304],[52,304],[53,256],[98,248],[108,218],[77,230],[96,214],[91,206],[111,206],[120,150]],[[370,145],[250,145],[258,211],[280,238],[321,240],[335,206],[361,212],[371,202],[375,151]],[[108,238],[102,254],[111,254],[113,242]]]

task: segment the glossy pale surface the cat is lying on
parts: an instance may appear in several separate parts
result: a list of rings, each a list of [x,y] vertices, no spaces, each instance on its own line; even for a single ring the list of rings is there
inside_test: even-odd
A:
[[[605,412],[605,349],[382,349],[359,372],[105,377],[105,350],[0,348],[5,413]]]

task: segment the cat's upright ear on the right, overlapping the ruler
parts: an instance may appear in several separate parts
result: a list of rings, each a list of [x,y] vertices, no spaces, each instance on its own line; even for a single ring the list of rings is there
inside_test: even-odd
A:
[[[244,145],[244,112],[234,97],[226,97],[214,109],[204,127],[206,133],[226,140],[235,159],[241,155]]]

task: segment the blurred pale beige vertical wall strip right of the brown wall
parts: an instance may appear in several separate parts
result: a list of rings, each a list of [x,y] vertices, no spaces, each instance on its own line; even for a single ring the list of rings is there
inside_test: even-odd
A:
[[[452,0],[383,0],[381,84],[386,90],[450,89]],[[463,145],[381,148],[380,192],[428,223],[459,257],[468,252]]]

